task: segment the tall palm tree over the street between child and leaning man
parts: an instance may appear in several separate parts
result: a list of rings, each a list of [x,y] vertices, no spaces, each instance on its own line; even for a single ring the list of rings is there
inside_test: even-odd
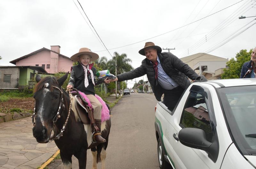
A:
[[[122,74],[134,69],[130,64],[132,60],[130,58],[127,58],[126,53],[122,53],[121,55],[119,55],[119,53],[114,52],[114,55],[115,56],[113,56],[113,58],[107,62],[107,67],[111,74]],[[118,89],[120,90],[120,85],[118,85]]]

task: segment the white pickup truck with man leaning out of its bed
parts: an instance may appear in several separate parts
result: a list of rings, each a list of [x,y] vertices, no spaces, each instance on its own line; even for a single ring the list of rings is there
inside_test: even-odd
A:
[[[161,169],[256,168],[256,79],[194,82],[155,111]]]

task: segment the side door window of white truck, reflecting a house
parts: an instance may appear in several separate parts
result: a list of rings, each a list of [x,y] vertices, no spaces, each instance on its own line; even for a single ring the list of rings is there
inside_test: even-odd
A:
[[[204,130],[206,139],[211,142],[213,132],[205,98],[200,93],[191,91],[184,106],[180,126]]]

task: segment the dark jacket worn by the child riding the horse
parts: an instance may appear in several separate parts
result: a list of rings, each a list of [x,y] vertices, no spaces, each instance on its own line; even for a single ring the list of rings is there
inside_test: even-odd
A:
[[[89,67],[93,72],[94,84],[98,85],[98,84],[104,82],[104,80],[98,80],[98,81],[96,80],[97,70],[95,67],[92,67],[92,66],[93,66],[93,64],[89,64]],[[68,84],[71,84],[74,88],[83,92],[85,95],[95,95],[94,85],[92,83],[92,77],[91,77],[91,74],[88,72],[89,71],[87,71],[87,78],[88,78],[89,85],[87,86],[87,88],[85,88],[85,86],[84,86],[84,68],[82,67],[82,65],[80,63],[76,66],[72,66]]]

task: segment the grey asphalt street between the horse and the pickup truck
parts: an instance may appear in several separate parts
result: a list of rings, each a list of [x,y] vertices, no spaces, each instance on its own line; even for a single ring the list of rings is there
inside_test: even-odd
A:
[[[107,169],[158,169],[155,136],[154,95],[132,93],[124,95],[111,111],[111,130],[107,148]],[[92,153],[87,151],[87,168],[92,167]],[[72,158],[73,168],[78,161]],[[56,160],[50,169],[62,169]],[[98,164],[98,168],[101,165]]]

